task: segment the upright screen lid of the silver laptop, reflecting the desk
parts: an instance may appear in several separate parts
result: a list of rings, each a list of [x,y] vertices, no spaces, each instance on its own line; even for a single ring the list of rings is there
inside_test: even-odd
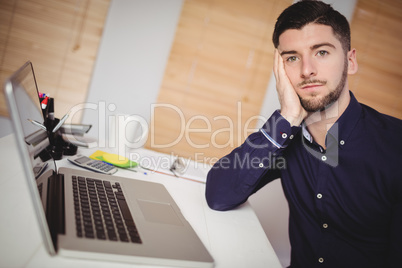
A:
[[[42,237],[49,253],[54,254],[55,246],[46,220],[46,199],[47,180],[56,167],[46,150],[50,143],[41,126],[44,118],[31,62],[25,63],[6,80],[4,91]]]

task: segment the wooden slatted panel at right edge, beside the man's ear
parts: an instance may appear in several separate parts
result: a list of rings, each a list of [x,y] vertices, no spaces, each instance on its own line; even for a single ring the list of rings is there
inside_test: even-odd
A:
[[[359,64],[351,90],[360,102],[402,119],[402,1],[358,1],[351,31]]]

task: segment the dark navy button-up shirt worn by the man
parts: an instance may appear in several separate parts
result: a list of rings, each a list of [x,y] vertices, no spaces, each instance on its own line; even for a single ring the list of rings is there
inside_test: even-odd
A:
[[[402,267],[402,121],[351,101],[326,150],[275,112],[208,173],[206,198],[228,210],[281,178],[291,267]]]

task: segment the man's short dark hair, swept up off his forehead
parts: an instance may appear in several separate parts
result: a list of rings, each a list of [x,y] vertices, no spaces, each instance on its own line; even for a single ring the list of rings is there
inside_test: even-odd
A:
[[[286,8],[279,15],[272,35],[275,48],[278,48],[279,36],[283,32],[289,29],[300,30],[309,23],[331,26],[345,53],[350,51],[348,20],[331,5],[316,0],[301,0]]]

